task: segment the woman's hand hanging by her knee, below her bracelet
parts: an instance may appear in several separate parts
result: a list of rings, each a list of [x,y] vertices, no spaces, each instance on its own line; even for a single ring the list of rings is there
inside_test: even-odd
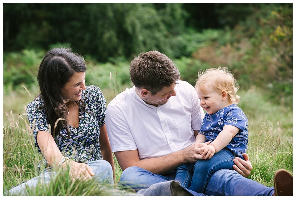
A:
[[[67,166],[70,167],[69,174],[72,181],[75,180],[91,180],[91,176],[95,175],[93,170],[85,163],[78,163],[74,160],[66,160],[63,164],[61,164],[63,168]]]

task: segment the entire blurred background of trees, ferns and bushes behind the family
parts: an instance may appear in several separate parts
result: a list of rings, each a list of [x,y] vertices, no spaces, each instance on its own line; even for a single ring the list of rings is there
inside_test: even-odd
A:
[[[292,105],[292,3],[3,4],[4,85],[36,83],[54,46],[114,65],[158,50],[192,85],[198,70],[227,66],[242,89],[255,85]]]

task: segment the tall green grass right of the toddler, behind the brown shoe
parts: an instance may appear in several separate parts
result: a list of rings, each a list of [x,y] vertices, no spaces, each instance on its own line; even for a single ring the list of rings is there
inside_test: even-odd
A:
[[[279,168],[293,173],[293,110],[272,104],[256,87],[239,95],[239,106],[249,121],[247,153],[253,166],[249,178],[273,186],[273,175]]]

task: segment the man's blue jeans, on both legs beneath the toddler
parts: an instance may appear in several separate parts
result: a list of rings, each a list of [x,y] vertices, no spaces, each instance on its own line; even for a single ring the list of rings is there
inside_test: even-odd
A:
[[[159,175],[143,168],[129,167],[122,172],[119,184],[138,191],[140,189],[147,189],[155,183],[175,180],[175,174],[176,170],[166,175]],[[204,196],[202,193],[196,193],[192,190],[188,191],[196,196]],[[273,193],[273,187],[266,187],[229,169],[221,169],[215,172],[209,179],[205,189],[205,195],[213,196],[272,196]]]

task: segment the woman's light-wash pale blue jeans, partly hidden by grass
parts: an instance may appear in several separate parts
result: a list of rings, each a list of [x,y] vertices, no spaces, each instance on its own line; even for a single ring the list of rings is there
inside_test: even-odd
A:
[[[95,175],[92,176],[94,180],[97,180],[100,183],[114,183],[112,166],[108,161],[95,160],[87,164],[95,173]],[[14,188],[8,190],[6,194],[10,193],[11,195],[25,195],[27,193],[27,189],[37,187],[37,185],[40,185],[40,183],[49,183],[50,180],[54,179],[56,173],[57,172],[53,172],[53,168],[46,168],[39,176],[15,186]]]

